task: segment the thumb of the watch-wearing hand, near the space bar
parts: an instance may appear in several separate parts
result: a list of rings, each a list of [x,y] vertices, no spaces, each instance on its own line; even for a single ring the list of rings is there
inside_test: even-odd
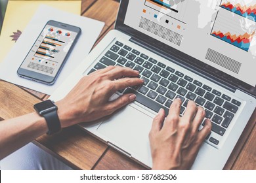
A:
[[[106,113],[108,115],[112,114],[117,109],[124,107],[125,105],[131,103],[132,101],[135,101],[135,99],[136,99],[135,94],[128,93],[128,94],[122,95],[121,97],[118,97],[116,100],[110,101],[106,105],[105,107]]]

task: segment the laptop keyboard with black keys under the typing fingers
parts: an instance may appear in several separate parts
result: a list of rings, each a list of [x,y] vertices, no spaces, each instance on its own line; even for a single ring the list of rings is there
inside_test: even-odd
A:
[[[176,98],[180,98],[182,101],[181,116],[184,114],[189,100],[195,101],[196,105],[203,107],[206,113],[205,118],[209,118],[213,122],[211,134],[205,141],[213,146],[219,144],[241,105],[240,101],[232,99],[199,80],[194,80],[191,76],[184,75],[184,73],[119,41],[110,47],[110,50],[100,58],[88,75],[98,69],[104,69],[108,65],[130,67],[139,71],[139,77],[144,80],[144,84],[120,90],[118,93],[136,94],[137,102],[155,112],[163,108],[165,116],[167,116],[169,107]],[[212,132],[217,135],[213,135]]]

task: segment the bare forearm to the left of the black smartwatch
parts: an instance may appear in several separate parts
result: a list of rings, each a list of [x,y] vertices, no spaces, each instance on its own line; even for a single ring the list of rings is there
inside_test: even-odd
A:
[[[0,159],[47,133],[45,118],[36,112],[0,122]]]

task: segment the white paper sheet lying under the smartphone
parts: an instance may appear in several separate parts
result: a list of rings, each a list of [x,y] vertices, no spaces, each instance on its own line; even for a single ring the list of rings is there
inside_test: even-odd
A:
[[[60,75],[52,86],[47,86],[46,84],[40,84],[33,82],[32,80],[20,78],[16,74],[18,67],[20,67],[20,64],[30,51],[33,43],[49,20],[56,20],[58,22],[75,25],[81,28],[81,35],[77,40],[77,43],[75,44],[62,71],[60,72]],[[12,22],[10,22],[10,24],[12,24]],[[77,67],[81,61],[83,61],[87,54],[89,54],[93,44],[98,38],[98,35],[100,35],[100,31],[102,31],[103,26],[104,22],[70,14],[46,5],[41,5],[34,14],[30,24],[28,24],[18,41],[12,47],[12,50],[7,55],[7,58],[5,58],[3,63],[1,63],[0,78],[13,84],[18,84],[37,92],[51,95],[51,93],[58,88],[65,78],[72,73],[75,67]]]

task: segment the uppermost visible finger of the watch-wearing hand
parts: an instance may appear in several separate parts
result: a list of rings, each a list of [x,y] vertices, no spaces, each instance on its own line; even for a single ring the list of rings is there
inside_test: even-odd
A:
[[[114,66],[114,69],[106,72],[106,74],[110,80],[115,80],[123,76],[137,77],[139,76],[139,71],[135,71],[129,67]]]

